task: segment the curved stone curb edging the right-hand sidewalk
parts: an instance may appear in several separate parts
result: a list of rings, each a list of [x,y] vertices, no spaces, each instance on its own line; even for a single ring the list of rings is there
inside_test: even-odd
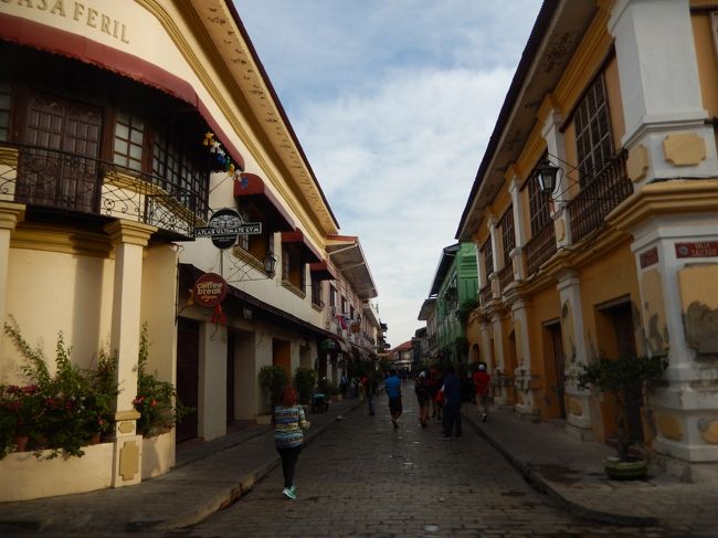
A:
[[[551,482],[546,479],[540,472],[531,467],[529,464],[518,460],[478,424],[468,419],[464,413],[462,414],[466,422],[471,424],[472,429],[484,440],[486,440],[488,444],[490,444],[498,453],[500,453],[506,458],[506,461],[508,461],[521,474],[521,476],[524,476],[526,482],[528,482],[531,487],[534,487],[534,489],[542,495],[548,496],[556,505],[568,510],[574,516],[598,523],[627,527],[653,527],[655,525],[658,525],[658,519],[655,517],[630,516],[626,514],[614,514],[604,510],[596,510],[570,499],[561,492],[559,492],[556,487],[553,487]]]

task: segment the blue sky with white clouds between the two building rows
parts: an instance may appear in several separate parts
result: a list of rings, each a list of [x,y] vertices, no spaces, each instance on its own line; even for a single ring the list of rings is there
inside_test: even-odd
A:
[[[234,0],[395,347],[423,326],[540,0]]]

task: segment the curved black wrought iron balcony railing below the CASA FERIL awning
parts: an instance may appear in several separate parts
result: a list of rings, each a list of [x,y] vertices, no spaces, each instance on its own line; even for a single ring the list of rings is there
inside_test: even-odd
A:
[[[167,178],[10,143],[0,144],[0,200],[133,220],[176,241],[193,239],[208,215],[204,200]]]

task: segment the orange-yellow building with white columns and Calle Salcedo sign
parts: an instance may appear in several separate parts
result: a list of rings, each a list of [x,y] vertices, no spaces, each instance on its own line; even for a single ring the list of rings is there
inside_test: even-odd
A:
[[[684,478],[718,462],[718,6],[546,1],[457,231],[479,252],[497,401],[608,440],[600,356],[664,355],[631,434]],[[558,186],[541,192],[543,162]]]

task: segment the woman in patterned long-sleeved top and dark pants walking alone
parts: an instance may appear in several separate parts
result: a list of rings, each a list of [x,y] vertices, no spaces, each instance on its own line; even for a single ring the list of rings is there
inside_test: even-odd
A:
[[[294,486],[294,471],[304,443],[303,430],[309,428],[309,422],[304,415],[304,408],[297,405],[297,393],[292,387],[286,387],[282,391],[279,404],[274,408],[274,442],[282,457],[284,473],[282,493],[295,499],[297,489]]]

